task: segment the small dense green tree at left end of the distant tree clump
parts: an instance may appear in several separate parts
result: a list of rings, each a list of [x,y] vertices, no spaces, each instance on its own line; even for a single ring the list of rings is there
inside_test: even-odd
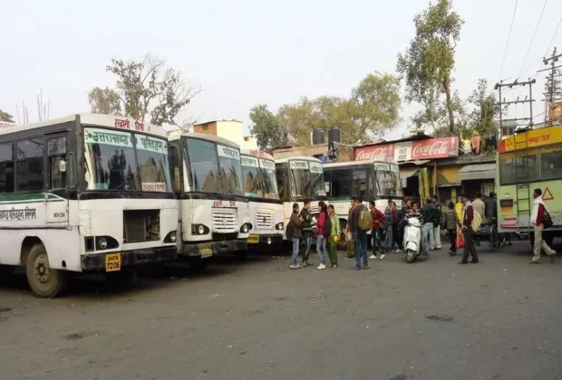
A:
[[[262,149],[284,147],[288,145],[288,133],[281,128],[279,119],[267,109],[266,104],[258,104],[250,109],[252,126],[250,133],[257,138],[257,146]]]

